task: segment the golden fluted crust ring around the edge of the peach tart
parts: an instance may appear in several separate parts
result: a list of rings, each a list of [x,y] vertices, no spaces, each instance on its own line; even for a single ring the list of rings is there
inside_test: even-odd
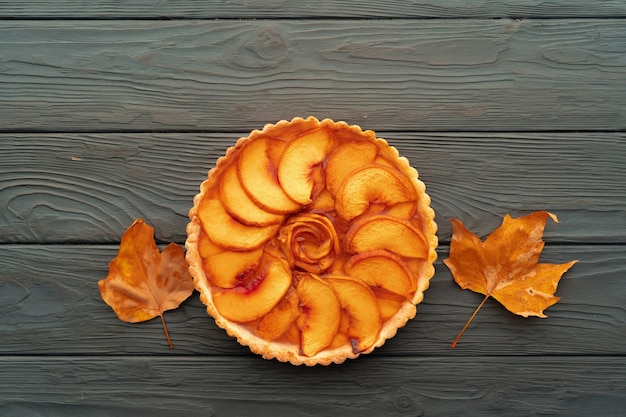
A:
[[[215,193],[214,183],[219,178],[220,171],[230,163],[230,158],[237,157],[240,150],[246,144],[259,138],[280,137],[283,140],[291,141],[306,132],[317,128],[326,128],[331,130],[341,130],[348,135],[354,135],[359,138],[367,138],[367,140],[376,143],[379,151],[385,158],[393,160],[395,166],[400,173],[406,177],[417,193],[416,217],[419,217],[423,233],[427,242],[427,254],[425,256],[423,266],[417,277],[417,288],[412,293],[410,300],[402,303],[399,310],[381,327],[378,339],[366,350],[355,352],[351,345],[345,344],[336,348],[323,349],[312,356],[306,356],[301,353],[300,347],[293,343],[281,341],[268,341],[259,337],[254,330],[245,323],[236,323],[226,319],[213,302],[213,293],[215,288],[212,286],[206,271],[203,268],[203,259],[199,251],[199,238],[203,233],[202,223],[199,218],[198,206],[202,199],[211,193]],[[194,278],[196,289],[200,292],[200,300],[206,305],[207,312],[211,315],[217,325],[226,330],[226,332],[237,339],[237,341],[256,354],[262,355],[265,359],[277,359],[282,362],[290,362],[294,365],[329,365],[331,363],[342,363],[346,359],[353,359],[360,354],[372,352],[375,348],[382,346],[386,340],[394,337],[399,328],[403,327],[408,320],[412,319],[416,314],[416,304],[419,304],[424,297],[424,291],[429,286],[429,281],[434,275],[433,263],[437,258],[435,249],[437,247],[437,225],[434,221],[435,213],[430,207],[430,197],[426,194],[425,185],[418,179],[417,170],[410,166],[409,161],[399,155],[396,148],[390,146],[387,141],[376,138],[375,133],[370,130],[363,131],[359,126],[349,126],[345,122],[334,122],[330,119],[319,121],[315,117],[306,119],[296,117],[290,121],[281,120],[276,124],[267,124],[262,130],[253,130],[249,136],[240,138],[235,146],[230,147],[224,156],[219,158],[214,168],[209,170],[208,177],[202,182],[200,192],[194,197],[194,205],[189,211],[190,222],[187,225],[187,240],[185,243],[187,252],[186,258],[189,263],[189,271]],[[286,221],[291,215],[286,214]],[[206,221],[206,219],[205,219]]]

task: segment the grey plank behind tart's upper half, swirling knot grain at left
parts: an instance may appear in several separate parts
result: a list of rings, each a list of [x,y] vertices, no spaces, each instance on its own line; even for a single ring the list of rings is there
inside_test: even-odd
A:
[[[116,243],[136,217],[183,242],[200,182],[242,135],[2,134],[0,242]],[[485,236],[550,210],[551,242],[626,243],[624,133],[378,135],[419,170],[442,242],[452,217]]]

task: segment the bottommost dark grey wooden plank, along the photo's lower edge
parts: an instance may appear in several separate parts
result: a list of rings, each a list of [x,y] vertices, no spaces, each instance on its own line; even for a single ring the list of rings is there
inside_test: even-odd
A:
[[[576,366],[572,366],[575,363]],[[623,357],[0,357],[0,412],[46,416],[621,417]]]

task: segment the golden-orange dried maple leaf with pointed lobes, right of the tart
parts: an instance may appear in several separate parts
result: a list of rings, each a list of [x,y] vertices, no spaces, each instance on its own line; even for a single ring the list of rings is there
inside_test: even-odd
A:
[[[554,295],[558,282],[577,261],[538,263],[548,217],[558,222],[554,214],[546,211],[516,219],[507,214],[484,242],[467,230],[460,220],[452,219],[450,256],[443,262],[461,288],[484,294],[485,298],[451,347],[456,346],[489,297],[498,300],[510,312],[524,317],[546,317],[543,310],[559,301],[560,298]]]

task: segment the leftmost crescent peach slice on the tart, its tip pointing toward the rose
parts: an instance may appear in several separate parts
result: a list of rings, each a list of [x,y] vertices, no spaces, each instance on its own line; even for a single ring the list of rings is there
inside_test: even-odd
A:
[[[209,239],[233,250],[256,249],[274,236],[280,227],[280,224],[265,227],[245,225],[232,217],[220,200],[208,197],[198,204],[198,218]]]

